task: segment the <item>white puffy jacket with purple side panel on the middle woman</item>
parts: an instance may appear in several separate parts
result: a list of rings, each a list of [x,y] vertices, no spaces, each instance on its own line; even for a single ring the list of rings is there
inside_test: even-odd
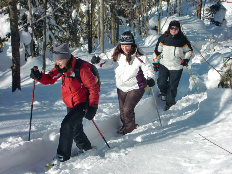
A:
[[[138,48],[139,51],[144,54],[144,52]],[[106,53],[99,63],[102,68],[109,68],[113,65],[115,71],[116,86],[123,92],[128,92],[133,89],[145,88],[146,79],[155,79],[155,72],[153,65],[148,60],[147,56],[144,54],[140,56],[137,53],[131,56],[131,62],[126,62],[126,56],[124,54],[119,54],[117,61],[113,61],[112,51]]]

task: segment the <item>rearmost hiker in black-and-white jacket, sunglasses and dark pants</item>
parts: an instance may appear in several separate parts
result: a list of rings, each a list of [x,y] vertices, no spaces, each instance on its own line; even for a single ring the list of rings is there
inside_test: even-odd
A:
[[[171,21],[160,36],[154,51],[154,69],[159,71],[157,85],[166,110],[174,105],[183,67],[188,65],[193,49],[181,31],[179,21]]]

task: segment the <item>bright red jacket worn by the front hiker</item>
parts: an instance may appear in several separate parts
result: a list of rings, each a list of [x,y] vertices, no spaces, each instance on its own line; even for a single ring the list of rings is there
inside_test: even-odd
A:
[[[72,72],[74,72],[76,58],[73,57]],[[80,77],[82,83],[76,78],[65,77],[57,71],[54,67],[48,74],[42,73],[42,78],[39,80],[44,85],[54,84],[60,77],[62,77],[61,94],[65,105],[68,108],[73,108],[76,104],[86,102],[89,92],[89,106],[98,107],[99,102],[99,85],[92,74],[87,63],[82,63],[80,67]],[[64,73],[71,76],[71,72]]]

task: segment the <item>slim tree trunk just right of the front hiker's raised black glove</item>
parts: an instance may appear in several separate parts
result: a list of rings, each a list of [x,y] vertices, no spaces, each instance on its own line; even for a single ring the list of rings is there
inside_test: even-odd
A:
[[[44,9],[44,16],[46,16],[47,12],[47,0],[43,0],[43,9]],[[42,51],[42,57],[43,57],[43,68],[42,72],[45,73],[46,70],[46,46],[47,46],[47,40],[46,40],[46,26],[47,26],[47,18],[45,17],[43,19],[43,51]]]

